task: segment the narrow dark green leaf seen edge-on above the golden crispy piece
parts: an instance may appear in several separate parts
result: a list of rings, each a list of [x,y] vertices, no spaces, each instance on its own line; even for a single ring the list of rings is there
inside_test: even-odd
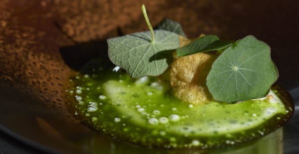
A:
[[[215,41],[218,41],[219,38],[215,35],[207,35],[203,37],[199,37],[192,41],[190,44],[178,48],[176,50],[177,56],[187,56],[199,52],[206,52],[202,51],[203,49],[209,48]],[[217,48],[218,49],[218,48]],[[210,50],[211,51],[211,50]]]

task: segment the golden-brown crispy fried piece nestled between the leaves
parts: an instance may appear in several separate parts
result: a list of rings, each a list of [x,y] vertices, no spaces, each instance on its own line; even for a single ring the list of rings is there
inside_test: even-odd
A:
[[[206,85],[206,77],[215,59],[215,55],[198,53],[175,60],[169,71],[174,95],[192,104],[209,102],[212,95]]]

